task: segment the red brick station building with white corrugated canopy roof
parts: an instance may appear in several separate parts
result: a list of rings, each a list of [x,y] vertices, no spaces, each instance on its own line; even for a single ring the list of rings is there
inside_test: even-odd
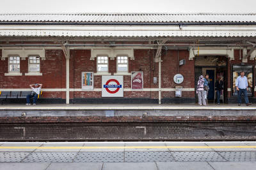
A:
[[[225,103],[234,103],[233,81],[244,70],[255,102],[255,15],[2,14],[0,91],[43,83],[45,103],[195,103],[195,82],[208,73],[211,89],[221,76]],[[103,82],[117,77],[121,86]],[[106,88],[122,89],[121,97],[104,96]]]

